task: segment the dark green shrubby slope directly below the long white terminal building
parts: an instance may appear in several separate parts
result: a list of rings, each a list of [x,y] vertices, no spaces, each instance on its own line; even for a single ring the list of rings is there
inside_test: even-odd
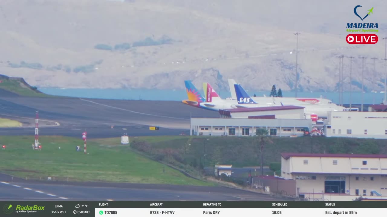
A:
[[[387,154],[387,144],[383,139],[334,137],[270,137],[270,139],[272,142],[264,146],[265,166],[269,166],[272,162],[281,162],[280,153],[283,152]],[[132,147],[155,159],[196,168],[199,168],[200,164],[214,166],[216,163],[232,164],[233,167],[259,166],[261,162],[255,137],[192,137],[192,139],[189,136],[139,137],[132,143]]]

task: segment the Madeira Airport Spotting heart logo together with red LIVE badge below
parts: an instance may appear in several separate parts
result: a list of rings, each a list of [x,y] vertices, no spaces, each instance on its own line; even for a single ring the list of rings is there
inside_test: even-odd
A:
[[[353,13],[356,17],[360,18],[361,22],[347,23],[347,32],[351,33],[366,33],[366,32],[379,32],[378,23],[365,22],[364,20],[370,20],[369,17],[373,14],[373,7],[367,10],[367,13],[360,13],[358,8],[362,7],[357,5],[353,8]],[[359,14],[360,13],[360,14]],[[376,34],[349,34],[346,37],[348,44],[376,44],[378,42],[378,36]]]

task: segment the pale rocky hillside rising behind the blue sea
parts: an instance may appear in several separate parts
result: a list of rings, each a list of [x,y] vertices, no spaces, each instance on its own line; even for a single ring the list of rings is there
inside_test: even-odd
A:
[[[334,7],[333,7],[334,6]],[[354,89],[384,88],[387,2],[370,0],[367,22],[378,22],[375,45],[346,43],[346,23],[358,22],[350,0],[2,0],[0,70],[33,86],[66,88],[182,89],[183,80],[227,89],[234,78],[245,88],[294,88],[295,31],[300,88],[337,88],[338,59],[353,61]],[[364,11],[363,11],[364,10]],[[349,89],[349,59],[344,61]]]

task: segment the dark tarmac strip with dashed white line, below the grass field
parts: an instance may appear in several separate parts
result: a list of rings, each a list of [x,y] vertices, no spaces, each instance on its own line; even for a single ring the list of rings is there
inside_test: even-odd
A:
[[[125,200],[125,201],[283,201],[281,197],[226,187],[130,183],[49,183],[0,174],[0,200]],[[289,199],[287,199],[289,200]]]

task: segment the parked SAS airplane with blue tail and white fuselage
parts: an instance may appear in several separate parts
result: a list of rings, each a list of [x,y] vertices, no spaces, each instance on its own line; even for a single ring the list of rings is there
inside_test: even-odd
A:
[[[241,87],[241,85],[234,85],[236,97],[238,98],[238,103],[241,104],[243,107],[252,108],[252,107],[259,107],[258,104],[247,94],[245,90]],[[283,99],[279,97],[279,99]],[[330,105],[302,105],[302,104],[294,104],[292,99],[288,99],[288,102],[280,102],[281,105],[297,105],[304,107],[305,115],[308,117],[317,117],[326,119],[328,116],[328,111],[343,111],[346,109],[345,107],[336,105],[336,104],[330,104]],[[315,116],[317,115],[317,117]]]

